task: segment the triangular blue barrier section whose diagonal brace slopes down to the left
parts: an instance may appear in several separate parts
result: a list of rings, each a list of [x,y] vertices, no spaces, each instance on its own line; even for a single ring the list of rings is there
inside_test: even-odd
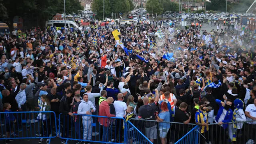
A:
[[[199,127],[195,126],[190,130],[185,136],[183,136],[180,140],[175,142],[175,144],[198,144],[198,131]]]

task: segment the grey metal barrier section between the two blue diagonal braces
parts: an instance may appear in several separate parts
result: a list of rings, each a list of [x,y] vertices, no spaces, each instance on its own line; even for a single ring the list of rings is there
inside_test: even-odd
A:
[[[174,144],[190,132],[196,124],[183,124],[179,122],[156,122],[155,120],[130,119],[130,122],[138,128],[148,139],[154,139],[157,144],[161,143],[160,137],[167,138],[167,144]],[[163,126],[160,126],[163,123]],[[168,128],[169,126],[170,128]],[[153,134],[147,134],[148,130],[153,130]],[[166,132],[166,133],[165,133]],[[154,135],[150,138],[150,135]]]

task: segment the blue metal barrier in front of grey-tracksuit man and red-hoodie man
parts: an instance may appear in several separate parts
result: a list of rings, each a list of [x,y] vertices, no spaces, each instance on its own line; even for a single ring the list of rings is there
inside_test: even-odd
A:
[[[68,140],[108,144],[119,144],[123,140],[126,141],[126,123],[124,123],[124,118],[82,114],[73,115],[74,117],[62,113],[59,115],[59,137],[62,141],[66,141],[66,143]],[[102,126],[102,124],[105,124],[105,126]],[[92,131],[99,132],[99,136],[92,136]]]

